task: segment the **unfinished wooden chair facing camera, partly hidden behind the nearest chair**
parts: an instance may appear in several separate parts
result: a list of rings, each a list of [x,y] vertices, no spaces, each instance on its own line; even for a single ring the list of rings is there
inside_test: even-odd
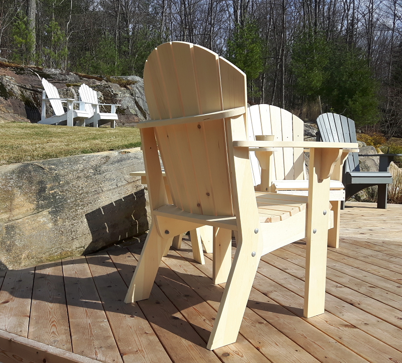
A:
[[[272,105],[255,105],[248,108],[248,139],[258,135],[273,135],[275,141],[304,141],[304,122],[297,116]],[[339,247],[339,221],[341,202],[345,200],[342,180],[342,164],[345,152],[338,160],[330,182],[330,202],[334,212],[334,228],[328,230],[328,245]],[[303,147],[279,148],[269,155],[250,152],[254,186],[261,192],[308,195],[309,181],[306,175]],[[258,161],[258,157],[261,159]],[[268,169],[261,169],[266,165]]]

